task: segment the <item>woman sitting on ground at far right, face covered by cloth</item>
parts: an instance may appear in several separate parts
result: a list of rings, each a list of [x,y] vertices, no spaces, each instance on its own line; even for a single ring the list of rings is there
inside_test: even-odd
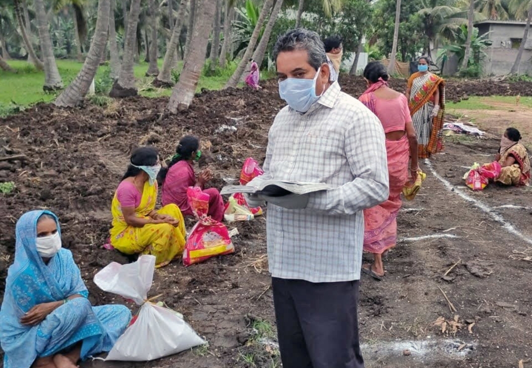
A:
[[[519,143],[521,133],[508,128],[501,139],[501,147],[495,160],[501,164],[501,174],[495,179],[504,185],[529,186],[530,160],[525,146]]]

